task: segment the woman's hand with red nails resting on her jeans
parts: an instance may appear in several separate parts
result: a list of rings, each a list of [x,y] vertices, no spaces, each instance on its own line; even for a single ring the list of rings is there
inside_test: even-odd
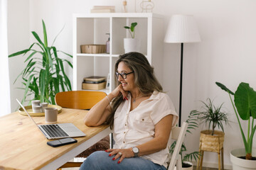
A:
[[[117,164],[121,163],[124,158],[134,157],[134,152],[132,152],[132,148],[128,149],[107,149],[105,152],[110,152],[109,157],[116,154],[113,161],[120,158]]]

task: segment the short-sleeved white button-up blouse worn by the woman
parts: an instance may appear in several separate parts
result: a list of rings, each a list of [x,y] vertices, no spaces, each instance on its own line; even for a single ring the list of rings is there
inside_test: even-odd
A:
[[[178,122],[178,115],[171,99],[167,94],[158,91],[154,91],[150,98],[142,101],[134,110],[130,111],[130,108],[131,95],[128,94],[128,101],[122,102],[114,113],[114,148],[127,149],[152,140],[156,123],[166,115],[174,115],[173,127]],[[143,155],[142,158],[166,167],[168,155],[169,147],[166,147],[154,154]]]

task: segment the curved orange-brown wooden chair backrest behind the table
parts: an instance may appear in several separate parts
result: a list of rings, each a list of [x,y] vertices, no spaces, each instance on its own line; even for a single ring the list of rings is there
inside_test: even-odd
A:
[[[63,108],[90,109],[105,96],[102,91],[63,91],[55,95],[55,103]]]

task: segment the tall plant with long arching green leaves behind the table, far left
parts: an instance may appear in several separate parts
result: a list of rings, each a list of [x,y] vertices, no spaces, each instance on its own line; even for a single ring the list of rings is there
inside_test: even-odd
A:
[[[68,60],[60,59],[58,57],[58,52],[62,51],[56,50],[56,47],[53,45],[50,47],[48,46],[46,25],[43,20],[42,23],[43,41],[41,38],[39,38],[35,31],[32,31],[31,33],[33,34],[34,38],[36,38],[37,42],[33,42],[33,44],[26,50],[21,50],[9,55],[9,57],[28,55],[25,60],[27,63],[26,67],[22,70],[21,74],[18,75],[18,77],[22,77],[22,84],[25,86],[25,88],[20,88],[24,90],[21,103],[26,101],[28,96],[34,94],[30,101],[40,100],[41,102],[55,104],[54,97],[55,94],[60,91],[60,89],[62,91],[65,91],[65,89],[68,91],[72,90],[70,80],[64,71],[63,62],[67,62],[71,68],[73,68],[73,64],[71,64]],[[55,37],[55,39],[58,37],[58,35]],[[53,43],[55,42],[55,39],[53,40]],[[62,53],[68,55],[65,52]],[[68,56],[73,57],[72,55]],[[14,84],[16,80],[14,81]]]

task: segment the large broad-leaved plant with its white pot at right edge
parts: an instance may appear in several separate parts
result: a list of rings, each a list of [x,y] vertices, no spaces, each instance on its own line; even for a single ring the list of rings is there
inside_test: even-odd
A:
[[[256,149],[252,148],[252,140],[255,135],[256,125],[254,125],[254,120],[256,118],[256,91],[254,91],[249,84],[240,83],[235,94],[230,91],[226,86],[216,82],[216,84],[228,92],[230,101],[232,103],[233,109],[235,111],[236,118],[238,119],[238,125],[240,127],[240,132],[242,135],[242,141],[245,146],[243,149],[234,149],[230,152],[230,160],[233,163],[234,170],[244,170],[256,169]],[[231,98],[234,96],[234,102]],[[247,121],[247,129],[244,131],[240,119]],[[247,131],[247,137],[245,137],[245,132]],[[254,159],[254,160],[253,160]]]

